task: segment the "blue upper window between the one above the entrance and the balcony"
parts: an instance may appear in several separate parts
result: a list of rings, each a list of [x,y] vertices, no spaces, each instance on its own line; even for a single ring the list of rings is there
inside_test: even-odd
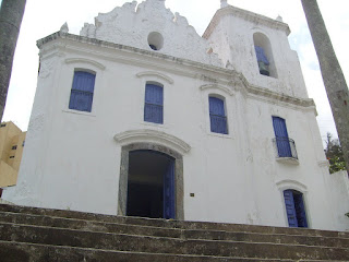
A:
[[[213,96],[208,97],[208,102],[210,132],[228,134],[225,102]]]

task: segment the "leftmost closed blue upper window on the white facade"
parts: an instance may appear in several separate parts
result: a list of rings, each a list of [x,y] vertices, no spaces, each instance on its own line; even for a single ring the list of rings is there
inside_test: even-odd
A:
[[[69,109],[88,111],[92,109],[94,98],[95,74],[75,71],[73,87],[70,94]]]

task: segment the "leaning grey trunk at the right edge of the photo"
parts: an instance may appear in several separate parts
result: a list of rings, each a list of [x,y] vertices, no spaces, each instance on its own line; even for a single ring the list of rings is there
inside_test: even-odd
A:
[[[316,0],[301,0],[349,174],[348,86]]]

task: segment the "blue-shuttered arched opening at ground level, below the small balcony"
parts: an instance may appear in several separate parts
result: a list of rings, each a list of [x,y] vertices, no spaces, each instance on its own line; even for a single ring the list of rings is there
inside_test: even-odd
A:
[[[289,227],[308,227],[303,194],[296,190],[284,191]]]

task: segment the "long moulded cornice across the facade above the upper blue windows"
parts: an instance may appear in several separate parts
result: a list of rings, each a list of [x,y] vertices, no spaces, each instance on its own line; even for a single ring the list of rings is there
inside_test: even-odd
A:
[[[58,40],[69,40],[71,43],[59,43]],[[49,43],[52,45],[46,46]],[[171,57],[164,53],[152,52],[152,51],[147,51],[139,48],[97,40],[97,39],[88,38],[84,36],[76,36],[76,35],[62,33],[62,32],[57,32],[37,41],[37,46],[40,48],[40,52],[43,51],[43,53],[46,53],[46,50],[47,51],[49,50],[48,52],[50,56],[52,56],[52,51],[55,49],[58,50],[58,52],[62,52],[62,50],[60,49],[67,49],[67,50],[73,50],[79,52],[89,52],[92,55],[95,53],[94,49],[91,48],[91,46],[83,46],[82,48],[80,46],[76,46],[76,44],[104,47],[106,51],[98,50],[97,55],[99,57],[104,59],[119,59],[122,62],[129,63],[129,64],[151,66],[153,68],[159,68],[159,64],[156,60],[161,59],[163,61],[168,62],[168,64],[161,64],[161,69],[165,69],[168,72],[177,73],[180,75],[197,78],[202,82],[204,83],[206,82],[206,86],[205,84],[201,85],[201,86],[204,86],[202,88],[213,87],[213,85],[216,85],[218,87],[231,86],[234,92],[241,92],[243,93],[244,96],[253,99],[268,100],[272,103],[281,102],[282,104],[293,105],[296,107],[301,107],[302,109],[315,110],[315,104],[313,99],[293,97],[293,96],[289,96],[286,94],[267,90],[265,87],[252,85],[249,83],[249,81],[244,78],[244,75],[241,72],[238,72],[231,69],[218,68],[215,66],[204,64],[204,63],[191,61],[188,59],[180,59],[180,58]],[[115,50],[119,50],[119,51],[116,52]],[[112,55],[110,56],[110,53]],[[147,58],[154,58],[154,59],[147,59]],[[173,63],[178,64],[179,67],[173,67]],[[189,68],[191,70],[189,70]],[[140,73],[139,73],[140,75],[137,75],[139,78],[144,76],[148,73],[154,74],[153,71],[140,72]],[[173,81],[172,79],[168,79],[168,76],[166,76],[165,74],[156,73],[156,75],[158,78],[165,76],[167,81],[169,81],[169,83]]]

